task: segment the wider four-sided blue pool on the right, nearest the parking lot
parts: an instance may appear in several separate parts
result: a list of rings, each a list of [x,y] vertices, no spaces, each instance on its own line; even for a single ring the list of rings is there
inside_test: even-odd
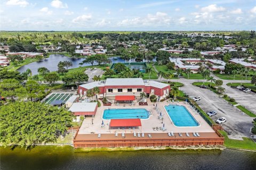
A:
[[[198,126],[199,123],[188,112],[185,106],[169,105],[164,106],[175,126]],[[173,108],[174,107],[174,108]]]

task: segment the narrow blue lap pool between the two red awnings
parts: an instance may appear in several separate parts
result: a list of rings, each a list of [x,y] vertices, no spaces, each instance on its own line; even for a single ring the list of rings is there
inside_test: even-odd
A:
[[[103,112],[104,119],[126,119],[126,118],[140,118],[146,119],[149,116],[149,112],[144,108],[124,108],[124,109],[106,109]]]

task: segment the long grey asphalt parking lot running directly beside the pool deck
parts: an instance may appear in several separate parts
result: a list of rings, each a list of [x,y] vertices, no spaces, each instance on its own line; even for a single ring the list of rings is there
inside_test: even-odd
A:
[[[190,82],[183,83],[185,86],[180,89],[191,98],[200,96],[201,100],[197,101],[197,104],[205,112],[217,111],[217,115],[212,116],[214,121],[220,117],[227,118],[227,122],[222,124],[225,131],[228,133],[240,134],[242,137],[250,137],[249,132],[252,127],[253,117],[247,116],[238,108],[231,106],[226,100],[221,99],[218,95],[208,89],[193,86]]]

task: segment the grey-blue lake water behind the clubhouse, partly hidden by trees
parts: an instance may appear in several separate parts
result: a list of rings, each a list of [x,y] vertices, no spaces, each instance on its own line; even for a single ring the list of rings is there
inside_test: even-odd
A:
[[[81,65],[79,65],[79,63],[81,63],[82,61],[84,61],[85,58],[71,58],[71,57],[67,57],[64,55],[60,55],[60,54],[53,54],[50,55],[49,58],[45,58],[43,60],[40,60],[38,62],[33,62],[33,63],[29,63],[27,65],[24,65],[22,67],[20,67],[17,71],[23,73],[25,72],[27,69],[30,69],[32,71],[32,74],[38,74],[37,69],[39,67],[46,67],[48,70],[50,71],[57,71],[58,70],[58,63],[60,61],[70,61],[73,63],[73,66],[69,67],[69,69],[72,68],[77,68]],[[132,60],[130,61],[125,61],[123,60],[121,57],[109,57],[110,63],[125,63],[125,62],[132,62]],[[153,60],[155,61],[155,60]],[[94,63],[94,65],[97,65],[98,63]],[[90,66],[91,64],[85,63],[82,66]]]

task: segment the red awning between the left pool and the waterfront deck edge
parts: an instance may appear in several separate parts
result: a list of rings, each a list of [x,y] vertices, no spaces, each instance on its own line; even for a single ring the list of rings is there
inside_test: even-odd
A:
[[[140,118],[135,119],[111,119],[110,127],[135,127],[141,126]]]

